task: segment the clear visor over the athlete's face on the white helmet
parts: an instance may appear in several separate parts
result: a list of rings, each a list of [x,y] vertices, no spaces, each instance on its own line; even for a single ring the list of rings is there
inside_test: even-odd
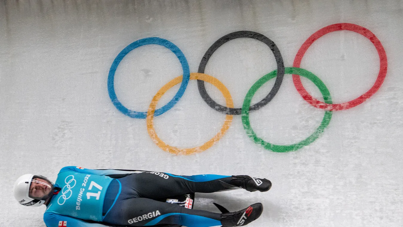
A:
[[[54,186],[46,177],[34,175],[29,182],[29,198],[46,200],[53,193]]]

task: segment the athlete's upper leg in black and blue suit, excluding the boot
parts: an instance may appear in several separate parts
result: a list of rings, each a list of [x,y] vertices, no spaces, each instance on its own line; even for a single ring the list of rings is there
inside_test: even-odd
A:
[[[135,173],[120,178],[125,187],[131,187],[138,197],[166,198],[193,192],[210,193],[227,189],[224,183],[231,183],[231,176],[224,175],[193,175],[179,176],[169,173],[145,172]]]

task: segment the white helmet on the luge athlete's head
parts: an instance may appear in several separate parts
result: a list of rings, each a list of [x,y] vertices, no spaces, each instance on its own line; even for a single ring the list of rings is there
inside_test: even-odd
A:
[[[32,190],[31,183],[40,184],[44,190],[49,191],[42,197],[36,197]],[[22,175],[14,183],[14,197],[23,206],[41,206],[46,199],[52,196],[54,190],[53,183],[48,178],[41,175],[25,174]]]

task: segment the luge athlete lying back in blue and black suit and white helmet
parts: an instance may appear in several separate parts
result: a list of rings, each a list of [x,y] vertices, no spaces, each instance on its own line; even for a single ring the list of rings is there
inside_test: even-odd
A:
[[[110,226],[108,224],[242,226],[256,220],[263,211],[261,203],[220,214],[157,201],[169,196],[211,193],[229,187],[266,192],[271,182],[246,175],[179,176],[148,171],[64,167],[55,184],[41,175],[19,177],[14,185],[14,196],[24,206],[45,204],[47,227],[105,227]]]

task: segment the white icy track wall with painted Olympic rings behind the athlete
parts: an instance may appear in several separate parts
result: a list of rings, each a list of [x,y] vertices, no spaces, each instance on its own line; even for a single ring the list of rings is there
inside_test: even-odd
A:
[[[197,194],[262,202],[251,227],[402,226],[402,18],[399,0],[2,1],[0,226],[44,226],[12,185],[68,165],[266,177]]]

